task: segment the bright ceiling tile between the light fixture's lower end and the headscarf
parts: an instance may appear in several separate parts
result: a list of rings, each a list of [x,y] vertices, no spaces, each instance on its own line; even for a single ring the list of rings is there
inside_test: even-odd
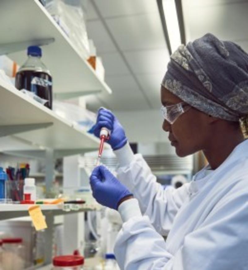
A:
[[[167,49],[124,52],[135,74],[165,73],[170,55]]]

